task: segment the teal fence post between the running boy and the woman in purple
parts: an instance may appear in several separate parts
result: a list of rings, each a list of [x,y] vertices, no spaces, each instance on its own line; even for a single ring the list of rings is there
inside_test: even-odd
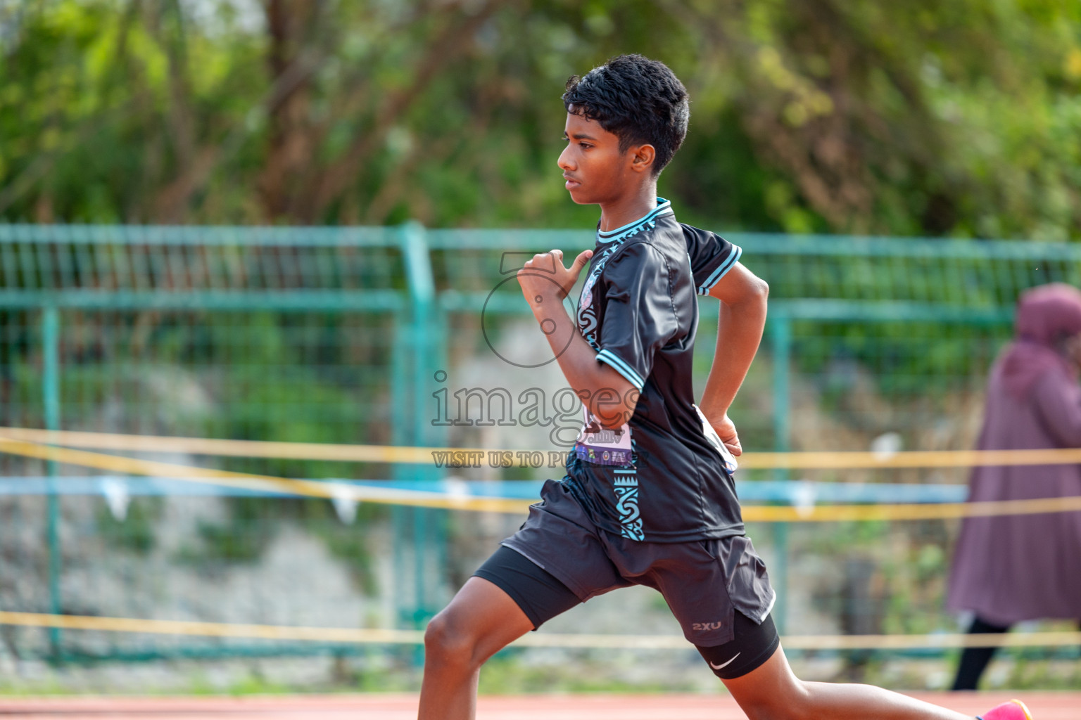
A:
[[[788,452],[789,445],[789,412],[791,410],[790,388],[788,384],[789,361],[792,344],[791,318],[784,313],[776,313],[770,318],[770,341],[773,350],[773,437],[774,450]],[[777,468],[774,479],[787,480],[788,471]],[[774,622],[779,633],[785,631],[788,617],[788,524],[778,522],[774,526],[774,540],[777,547],[777,563],[771,570],[777,602],[774,606]]]

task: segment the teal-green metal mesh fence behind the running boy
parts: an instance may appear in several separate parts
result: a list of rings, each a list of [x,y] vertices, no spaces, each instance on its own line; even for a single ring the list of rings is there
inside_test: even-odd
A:
[[[1044,282],[1081,284],[1081,248],[1072,245],[730,239],[745,248],[744,264],[771,286],[768,335],[733,409],[751,450],[967,447],[1017,295]],[[531,344],[539,334],[512,270],[523,254],[560,247],[571,255],[591,242],[579,231],[417,225],[0,226],[0,424],[536,447],[548,427],[480,425],[480,397],[470,405],[468,395],[459,422],[440,423],[435,396],[505,388],[513,400],[530,386],[558,393],[555,365],[540,364]],[[703,299],[702,307],[699,389],[717,317],[715,301]],[[174,460],[285,477],[401,481],[451,474],[430,464]],[[453,474],[535,479],[559,470]],[[90,475],[0,457],[6,483],[0,609],[416,626],[508,529],[508,520],[492,517],[366,506],[352,516],[324,501],[182,495],[161,490],[168,485],[110,495],[102,485],[108,478]],[[38,487],[27,480],[36,477],[46,480],[44,491],[26,490]],[[759,479],[958,484],[964,477],[958,471],[743,474],[745,481]],[[916,631],[946,622],[940,585],[949,524],[752,530],[783,588],[776,614],[787,631],[806,629],[788,600],[806,580],[792,559],[811,567],[803,559],[829,554],[851,560],[837,565],[851,568],[840,572],[853,587],[866,589],[875,573],[907,583],[904,608],[895,607],[896,593],[871,594],[854,606],[853,598],[866,595],[858,587],[815,600],[820,612],[841,619],[841,630]],[[855,552],[854,536],[869,549]],[[900,556],[898,546],[905,547]],[[304,568],[290,570],[291,548],[337,584],[304,581]],[[921,568],[915,575],[913,567]],[[279,568],[278,574],[267,568]],[[238,580],[244,576],[248,582]],[[231,594],[217,587],[230,583]],[[320,604],[334,593],[348,599],[338,606],[347,610]],[[227,602],[218,599],[226,596]],[[325,650],[11,628],[3,638],[24,654],[69,658]]]

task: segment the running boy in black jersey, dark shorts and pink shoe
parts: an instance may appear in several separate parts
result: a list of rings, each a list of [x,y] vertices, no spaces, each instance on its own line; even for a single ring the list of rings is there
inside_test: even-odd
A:
[[[630,585],[664,595],[752,720],[971,720],[879,688],[792,674],[770,617],[765,566],[744,532],[732,478],[740,446],[728,417],[762,336],[766,285],[738,262],[738,247],[677,222],[656,195],[689,119],[671,70],[619,56],[571,78],[563,104],[559,166],[574,202],[601,206],[597,245],[570,268],[558,249],[537,255],[518,280],[585,421],[566,476],[545,484],[522,528],[428,625],[421,720],[473,718],[484,661]],[[572,321],[562,298],[587,263]],[[696,293],[721,301],[700,410],[691,382]],[[1013,703],[984,718],[1029,716]]]

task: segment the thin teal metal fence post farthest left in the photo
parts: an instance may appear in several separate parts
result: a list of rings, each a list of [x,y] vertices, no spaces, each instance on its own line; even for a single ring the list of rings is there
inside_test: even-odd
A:
[[[56,308],[44,308],[41,312],[41,385],[42,402],[45,410],[45,430],[59,430],[61,426],[61,392],[59,392],[59,311]],[[56,462],[48,461],[49,495],[46,499],[45,534],[49,546],[49,612],[61,613],[61,538],[59,538],[59,495],[56,488]],[[61,630],[58,627],[49,629],[49,641],[53,657],[59,660],[63,655],[61,647]]]

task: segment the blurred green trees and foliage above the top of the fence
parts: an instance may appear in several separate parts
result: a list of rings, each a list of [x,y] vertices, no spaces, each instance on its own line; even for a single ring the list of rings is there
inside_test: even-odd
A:
[[[568,76],[693,98],[685,220],[1066,240],[1081,6],[1056,0],[31,0],[0,15],[0,218],[580,227]]]

